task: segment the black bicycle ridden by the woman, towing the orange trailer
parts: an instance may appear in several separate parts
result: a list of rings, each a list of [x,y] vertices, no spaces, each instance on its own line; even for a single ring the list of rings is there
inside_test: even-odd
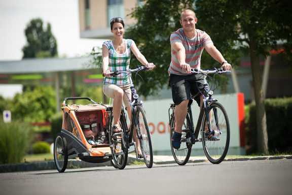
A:
[[[127,71],[115,71],[110,73],[110,75],[112,76],[116,76],[121,73],[126,73],[127,75],[129,75],[132,91],[132,97],[128,97],[132,110],[132,116],[130,116],[130,127],[128,127],[127,125],[127,117],[124,108],[122,108],[120,116],[121,133],[116,133],[112,131],[113,107],[107,108],[105,112],[105,118],[107,120],[106,128],[107,132],[109,133],[109,144],[113,155],[112,165],[118,169],[124,169],[126,167],[128,153],[136,152],[136,157],[138,158],[136,143],[132,141],[134,131],[136,131],[137,133],[137,138],[140,144],[139,149],[141,149],[145,165],[148,168],[152,168],[153,166],[153,152],[148,121],[143,108],[143,103],[142,101],[138,100],[139,95],[136,93],[136,89],[133,85],[131,76],[131,73],[135,73],[136,75],[138,75],[139,71],[147,70],[149,70],[148,67],[137,66],[136,69],[129,69]],[[129,151],[130,146],[134,146],[134,150]]]

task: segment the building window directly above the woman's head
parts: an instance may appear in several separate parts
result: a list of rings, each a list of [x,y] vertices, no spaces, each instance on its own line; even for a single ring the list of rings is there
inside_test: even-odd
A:
[[[124,18],[124,3],[123,0],[107,0],[107,21],[115,17]]]

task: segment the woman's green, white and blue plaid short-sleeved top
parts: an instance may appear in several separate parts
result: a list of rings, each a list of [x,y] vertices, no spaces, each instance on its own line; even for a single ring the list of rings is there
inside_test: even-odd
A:
[[[131,47],[134,43],[131,39],[124,39],[126,51],[119,54],[115,51],[112,41],[106,41],[103,43],[108,48],[108,69],[110,72],[114,71],[126,71],[129,69],[131,59]],[[130,83],[129,76],[123,73],[115,77],[104,77],[103,84],[116,84],[125,85]]]

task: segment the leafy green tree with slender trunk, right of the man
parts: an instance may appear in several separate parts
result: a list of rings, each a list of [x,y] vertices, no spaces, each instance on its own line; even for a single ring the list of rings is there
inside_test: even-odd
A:
[[[257,110],[258,152],[268,154],[265,99],[262,89],[260,55],[285,48],[282,55],[291,59],[292,7],[288,0],[197,0],[198,27],[203,28],[222,48],[236,44],[237,51],[250,56]]]

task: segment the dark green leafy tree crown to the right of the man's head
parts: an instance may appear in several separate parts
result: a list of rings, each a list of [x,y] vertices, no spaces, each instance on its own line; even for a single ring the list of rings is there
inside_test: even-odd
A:
[[[283,0],[196,0],[197,26],[207,31],[227,60],[240,53],[268,55],[281,41],[286,58],[291,56],[290,1]],[[253,50],[250,46],[254,45]]]

